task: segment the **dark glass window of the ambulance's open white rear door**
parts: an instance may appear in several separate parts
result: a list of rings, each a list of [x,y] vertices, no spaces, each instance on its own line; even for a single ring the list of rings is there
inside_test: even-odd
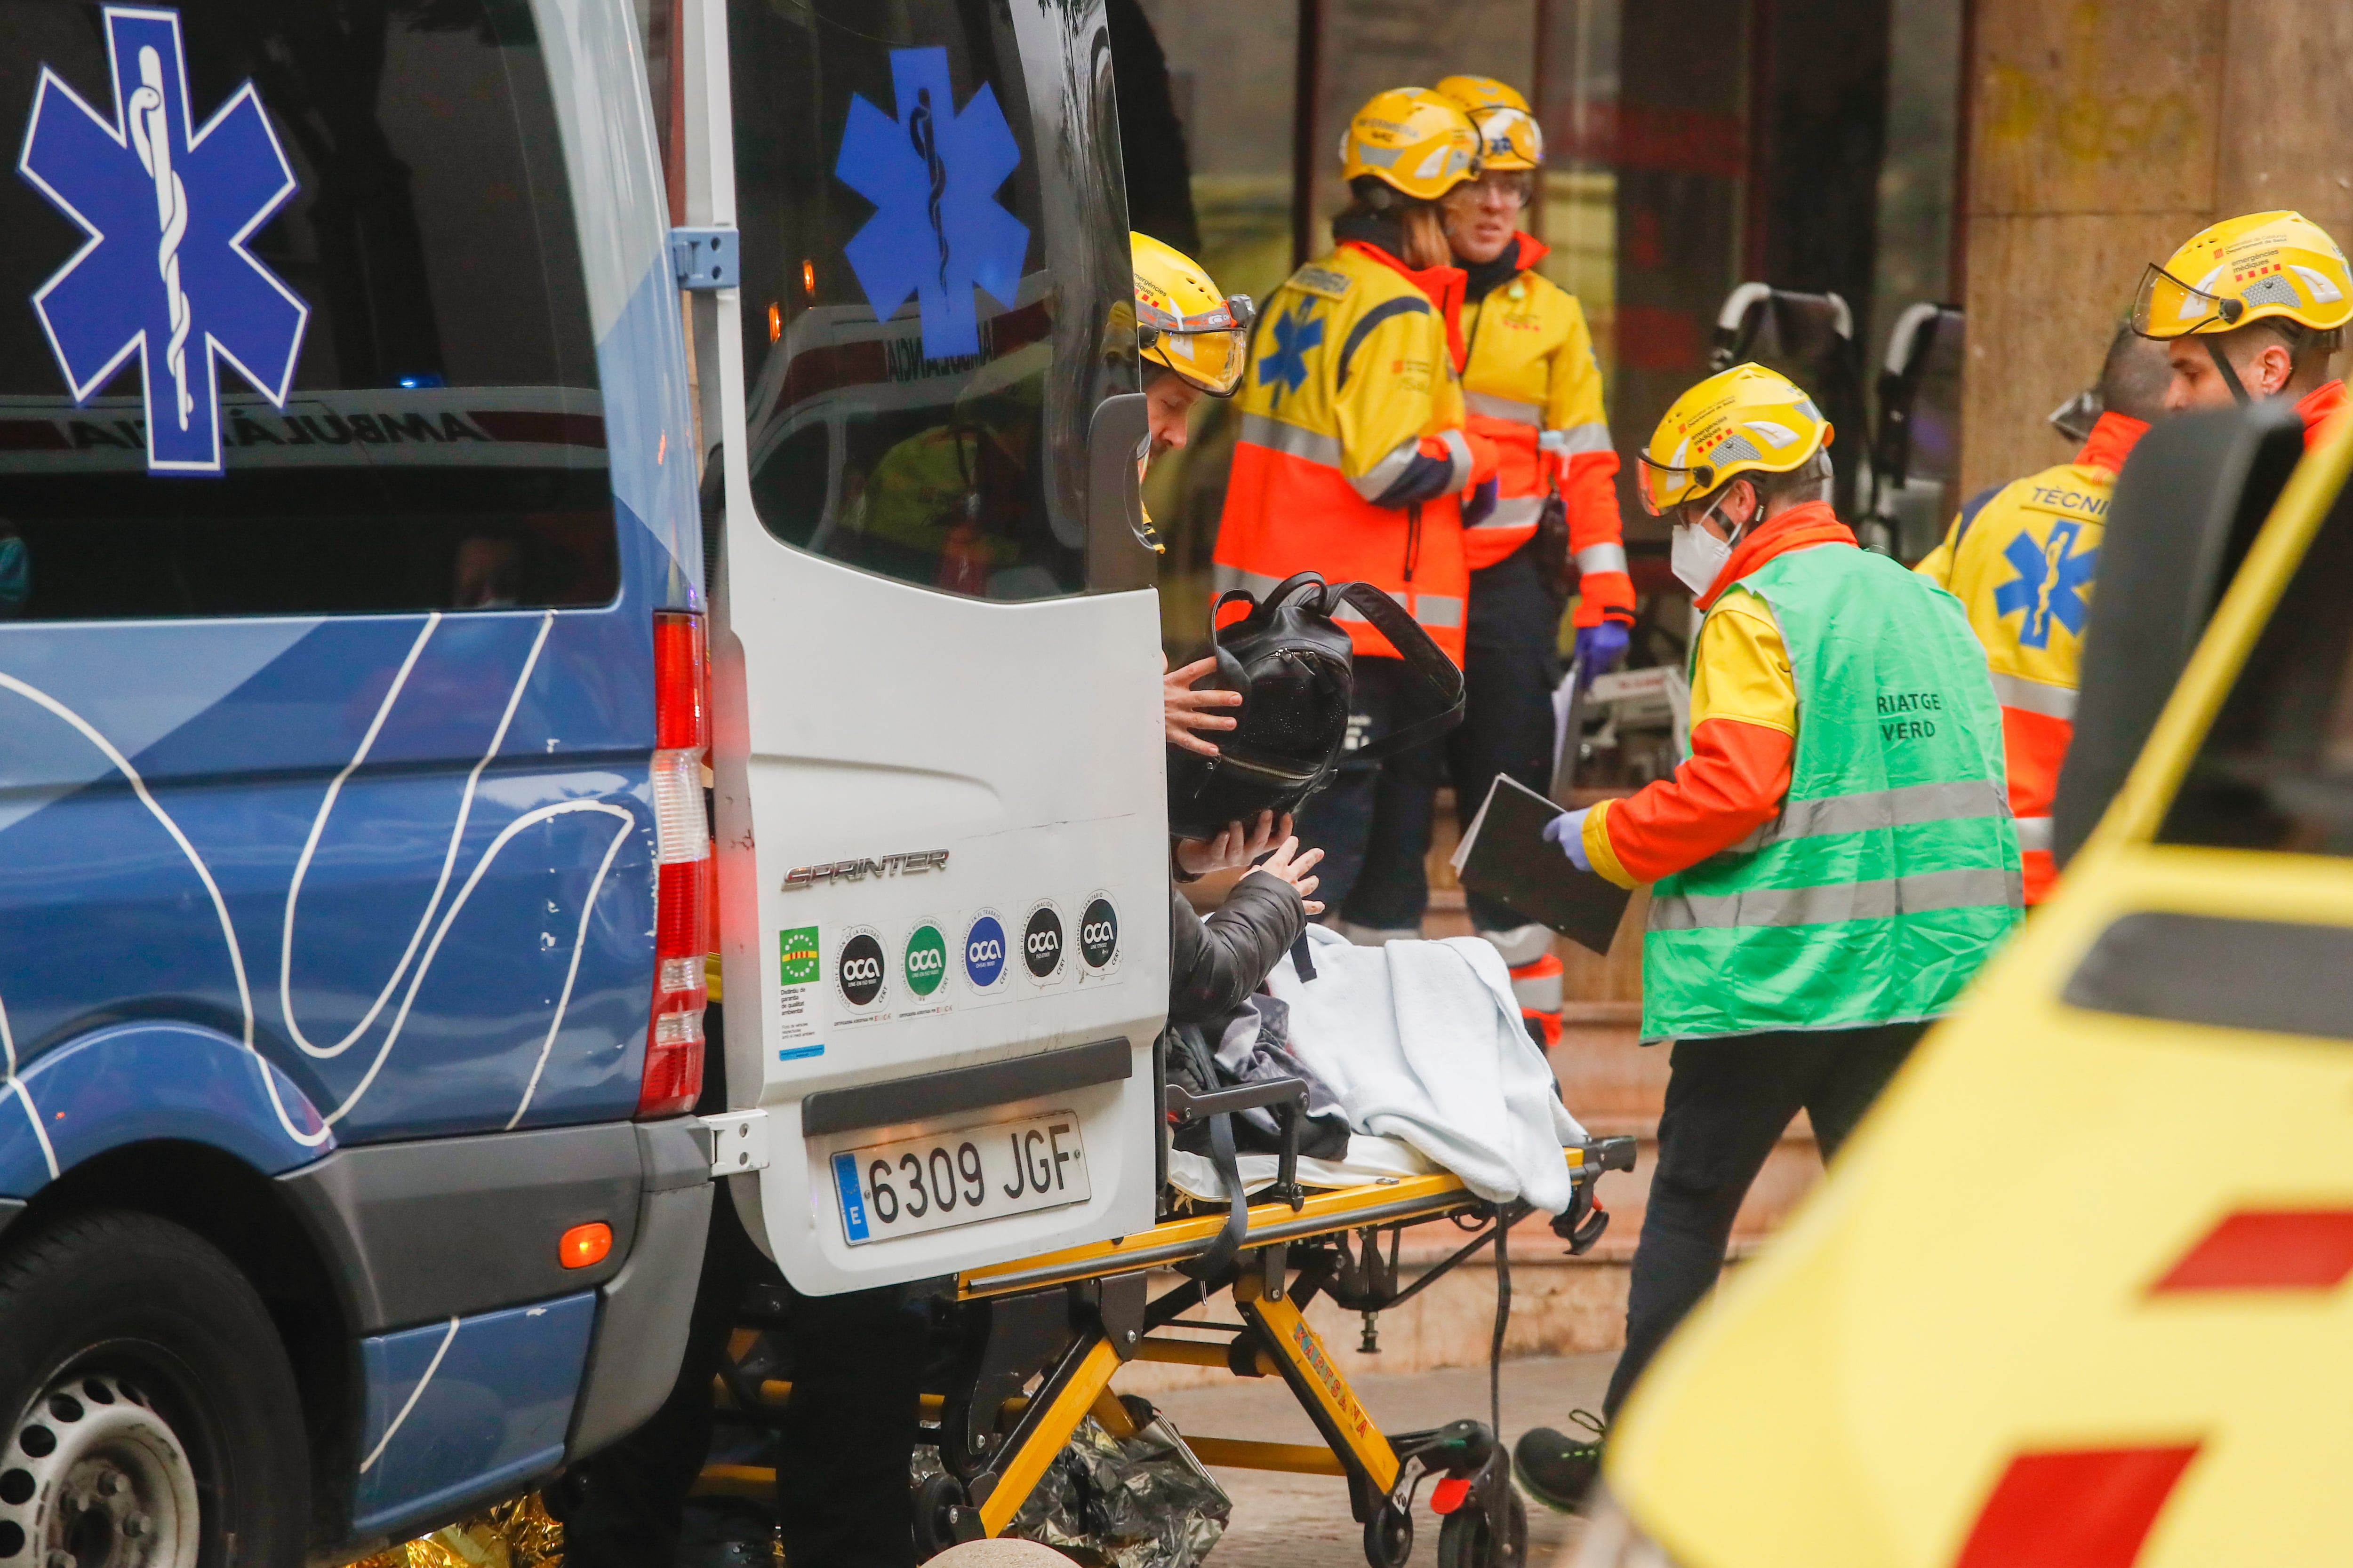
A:
[[[1059,56],[1068,26],[1040,0],[729,0],[746,470],[772,536],[972,597],[1085,588],[1073,475],[1106,324],[1071,301],[1129,282],[1087,158],[1115,129],[1075,136],[1092,108],[1033,108],[1024,78],[1024,40]]]

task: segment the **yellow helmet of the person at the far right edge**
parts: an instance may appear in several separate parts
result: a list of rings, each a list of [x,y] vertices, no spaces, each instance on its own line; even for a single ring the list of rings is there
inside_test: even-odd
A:
[[[2233,331],[2268,315],[2315,331],[2353,320],[2353,275],[2301,212],[2252,212],[2200,230],[2141,273],[2132,329],[2148,339]]]

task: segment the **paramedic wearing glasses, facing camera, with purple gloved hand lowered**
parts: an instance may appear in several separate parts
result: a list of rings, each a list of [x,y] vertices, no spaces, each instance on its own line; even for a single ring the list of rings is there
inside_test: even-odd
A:
[[[1454,813],[1464,827],[1497,773],[1544,792],[1553,773],[1553,686],[1560,611],[1577,562],[1577,668],[1591,679],[1626,656],[1633,581],[1617,510],[1617,449],[1602,416],[1602,371],[1584,306],[1537,270],[1546,247],[1520,233],[1544,169],[1544,132],[1527,99],[1485,75],[1449,75],[1438,92],[1471,115],[1482,172],[1440,212],[1464,268],[1464,402],[1468,428],[1497,447],[1497,503],[1464,529],[1471,628],[1464,722],[1447,736]],[[1548,538],[1537,536],[1555,505]],[[1562,529],[1565,522],[1565,529]],[[1562,550],[1567,559],[1562,559]],[[1504,954],[1513,990],[1546,1041],[1560,1032],[1553,933],[1471,893],[1471,924]]]

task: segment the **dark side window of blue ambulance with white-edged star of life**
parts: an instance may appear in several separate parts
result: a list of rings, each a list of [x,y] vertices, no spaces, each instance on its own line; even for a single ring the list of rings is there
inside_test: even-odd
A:
[[[0,132],[0,618],[614,597],[529,5],[12,0]]]

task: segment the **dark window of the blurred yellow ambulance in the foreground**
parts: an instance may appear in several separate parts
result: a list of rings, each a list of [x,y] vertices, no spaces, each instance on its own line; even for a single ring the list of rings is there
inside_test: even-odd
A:
[[[2158,835],[2353,856],[2353,489],[2257,637]]]

